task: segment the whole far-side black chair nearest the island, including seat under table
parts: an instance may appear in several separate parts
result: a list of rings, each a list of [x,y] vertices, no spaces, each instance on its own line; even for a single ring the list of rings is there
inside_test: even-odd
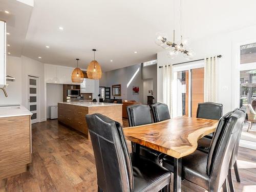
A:
[[[129,126],[138,126],[152,123],[150,106],[144,104],[133,104],[126,108]],[[144,157],[161,164],[163,153],[152,150],[146,146],[142,146],[132,142],[133,152],[140,153]]]

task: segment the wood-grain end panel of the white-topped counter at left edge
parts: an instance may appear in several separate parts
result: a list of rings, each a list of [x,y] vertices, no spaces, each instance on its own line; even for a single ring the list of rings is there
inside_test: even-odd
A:
[[[0,180],[26,172],[31,163],[30,115],[0,118]]]

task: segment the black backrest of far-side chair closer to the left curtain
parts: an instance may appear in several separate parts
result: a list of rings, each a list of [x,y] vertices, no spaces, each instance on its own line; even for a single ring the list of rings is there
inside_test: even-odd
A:
[[[154,122],[164,121],[170,119],[169,109],[167,104],[164,103],[155,103],[151,106],[153,112]]]

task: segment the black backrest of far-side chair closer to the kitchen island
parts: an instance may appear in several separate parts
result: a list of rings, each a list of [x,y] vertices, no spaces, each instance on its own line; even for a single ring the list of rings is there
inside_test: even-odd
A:
[[[126,107],[129,126],[138,126],[152,123],[150,106],[132,104]]]

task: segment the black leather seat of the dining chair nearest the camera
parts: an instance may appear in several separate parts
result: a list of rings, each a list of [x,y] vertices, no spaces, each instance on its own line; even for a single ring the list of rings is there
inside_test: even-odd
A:
[[[170,182],[170,172],[166,168],[136,153],[131,153],[134,177],[134,192],[160,191]]]

